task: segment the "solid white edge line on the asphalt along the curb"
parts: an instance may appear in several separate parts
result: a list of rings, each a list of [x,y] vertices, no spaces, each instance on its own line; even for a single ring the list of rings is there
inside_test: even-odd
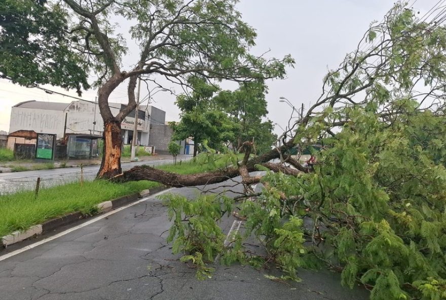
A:
[[[162,192],[157,193],[157,194],[155,194],[155,195],[151,195],[151,196],[149,196],[149,197],[145,197],[145,198],[143,198],[143,199],[141,199],[141,200],[138,200],[138,201],[136,201],[136,202],[132,202],[132,203],[130,203],[130,204],[127,204],[126,206],[122,206],[122,207],[117,208],[117,209],[115,209],[115,210],[112,210],[112,211],[110,211],[110,212],[101,214],[101,215],[98,216],[98,217],[95,217],[95,218],[93,218],[93,219],[91,219],[91,220],[89,220],[89,221],[86,221],[85,223],[82,223],[82,224],[80,224],[80,225],[78,225],[78,226],[75,226],[75,227],[72,227],[72,228],[70,228],[70,229],[67,229],[67,230],[65,230],[65,231],[63,231],[63,232],[61,232],[61,233],[58,233],[57,235],[54,235],[54,236],[52,236],[52,237],[48,237],[48,238],[46,238],[46,239],[43,239],[42,241],[35,242],[34,244],[31,244],[31,245],[25,246],[25,247],[23,247],[23,248],[21,248],[21,249],[17,249],[17,250],[15,250],[15,251],[12,251],[12,252],[10,252],[10,253],[8,253],[8,254],[5,254],[5,255],[3,255],[3,256],[0,256],[0,261],[5,260],[5,259],[7,259],[7,258],[9,258],[9,257],[15,256],[15,255],[17,255],[17,254],[19,254],[19,253],[25,252],[26,250],[30,250],[30,249],[35,248],[35,247],[37,247],[37,246],[40,246],[40,245],[42,245],[42,244],[48,243],[48,242],[50,242],[50,241],[52,241],[52,240],[55,240],[55,239],[60,238],[60,237],[62,237],[62,236],[64,236],[64,235],[66,235],[66,234],[69,234],[70,232],[76,231],[76,230],[81,229],[81,228],[83,228],[83,227],[86,227],[86,226],[88,226],[88,225],[90,225],[90,224],[92,224],[92,223],[94,223],[94,222],[97,222],[97,221],[99,221],[99,220],[101,220],[101,219],[103,219],[103,218],[105,218],[105,217],[108,217],[109,215],[112,215],[112,214],[115,214],[115,213],[117,213],[117,212],[120,212],[121,210],[124,210],[124,209],[126,209],[126,208],[129,208],[129,207],[131,207],[131,206],[133,206],[133,205],[136,205],[136,204],[138,204],[138,203],[144,202],[144,201],[146,201],[146,200],[148,200],[148,199],[150,199],[150,198],[156,197],[156,196],[158,196],[158,195],[161,195],[161,194],[164,194],[164,193],[168,193],[168,192],[170,192],[170,191],[173,190],[173,189],[174,189],[174,188],[171,187],[171,188],[168,189],[168,190],[162,191]]]

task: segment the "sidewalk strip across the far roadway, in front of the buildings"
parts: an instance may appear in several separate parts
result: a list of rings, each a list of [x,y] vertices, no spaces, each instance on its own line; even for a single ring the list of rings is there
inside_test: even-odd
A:
[[[178,155],[177,160],[184,158],[190,158],[191,155]],[[173,157],[170,154],[160,154],[153,156],[142,156],[137,157],[138,161],[158,161],[158,160],[168,160]],[[130,158],[121,158],[121,163],[129,163]],[[94,166],[100,165],[100,159],[91,160],[67,160],[67,161],[48,161],[48,162],[33,162],[31,160],[27,161],[11,161],[0,163],[0,173],[10,173],[10,172],[21,172],[21,171],[36,171],[36,170],[49,170],[49,169],[62,169],[62,168],[79,168],[83,166]]]

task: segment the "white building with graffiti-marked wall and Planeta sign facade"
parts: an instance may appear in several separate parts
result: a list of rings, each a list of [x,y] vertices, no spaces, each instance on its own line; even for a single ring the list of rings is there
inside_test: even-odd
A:
[[[112,114],[117,115],[124,104],[110,103]],[[132,111],[121,123],[124,144],[131,143],[135,112]],[[138,113],[138,136],[140,145],[149,145],[150,125],[164,124],[165,111],[153,106],[140,106]],[[86,100],[71,103],[25,101],[12,107],[9,133],[32,130],[36,133],[101,135],[103,122],[97,103]]]

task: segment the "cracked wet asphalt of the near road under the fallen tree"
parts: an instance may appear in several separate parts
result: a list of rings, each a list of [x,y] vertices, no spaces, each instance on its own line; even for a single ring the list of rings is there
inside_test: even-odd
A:
[[[199,190],[170,192],[194,198]],[[15,256],[4,259],[15,245],[0,251],[0,299],[368,299],[366,291],[343,288],[340,275],[328,271],[301,270],[301,283],[285,284],[264,276],[275,270],[216,264],[212,278],[199,281],[166,244],[166,210],[151,196]],[[233,223],[232,217],[223,218],[221,228],[228,233]]]

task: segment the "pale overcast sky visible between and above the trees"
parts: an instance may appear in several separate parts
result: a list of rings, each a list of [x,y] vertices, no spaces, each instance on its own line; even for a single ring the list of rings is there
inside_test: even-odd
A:
[[[271,49],[269,56],[291,54],[296,60],[294,69],[287,70],[287,79],[268,84],[268,118],[283,128],[286,126],[289,107],[279,102],[279,97],[286,97],[296,107],[314,103],[327,70],[338,66],[345,54],[354,50],[370,22],[382,20],[393,3],[389,0],[241,0],[238,7],[243,19],[258,34],[252,52],[259,55]],[[417,0],[414,8],[423,13],[436,3],[436,0]],[[124,30],[128,24],[121,27]],[[77,96],[74,92],[48,88]],[[91,90],[83,93],[82,98],[94,100],[95,95],[96,91]],[[9,131],[11,106],[27,100],[71,102],[74,99],[0,80],[0,130]],[[156,103],[152,105],[166,111],[166,121],[178,120],[174,96],[160,92],[154,100]],[[126,86],[118,87],[109,101],[126,103]],[[279,126],[276,132],[280,132]]]

